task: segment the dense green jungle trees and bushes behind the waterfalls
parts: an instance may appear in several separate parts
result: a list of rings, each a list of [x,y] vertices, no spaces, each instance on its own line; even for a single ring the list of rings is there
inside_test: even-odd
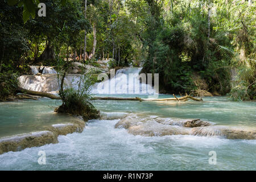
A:
[[[37,14],[39,3],[46,5],[45,17]],[[2,0],[1,83],[26,74],[27,65],[57,65],[56,57],[85,64],[111,57],[112,67],[133,64],[159,73],[162,92],[208,90],[255,100],[255,5],[253,0]]]

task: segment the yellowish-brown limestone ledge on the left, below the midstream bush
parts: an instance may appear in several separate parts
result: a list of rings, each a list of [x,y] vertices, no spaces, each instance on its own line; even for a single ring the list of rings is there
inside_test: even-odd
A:
[[[58,143],[59,135],[81,133],[84,130],[85,122],[79,119],[72,123],[57,124],[48,127],[46,131],[37,131],[28,134],[14,135],[0,138],[0,155],[9,151],[21,151],[25,148],[40,147],[45,144]]]

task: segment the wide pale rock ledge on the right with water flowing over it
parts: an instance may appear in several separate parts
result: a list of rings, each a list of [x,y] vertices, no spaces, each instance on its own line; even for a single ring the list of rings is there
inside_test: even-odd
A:
[[[256,139],[256,131],[238,130],[228,126],[210,126],[209,122],[200,119],[161,118],[143,114],[127,114],[115,124],[115,128],[124,128],[130,134],[145,137],[197,135],[220,136],[228,139]]]

